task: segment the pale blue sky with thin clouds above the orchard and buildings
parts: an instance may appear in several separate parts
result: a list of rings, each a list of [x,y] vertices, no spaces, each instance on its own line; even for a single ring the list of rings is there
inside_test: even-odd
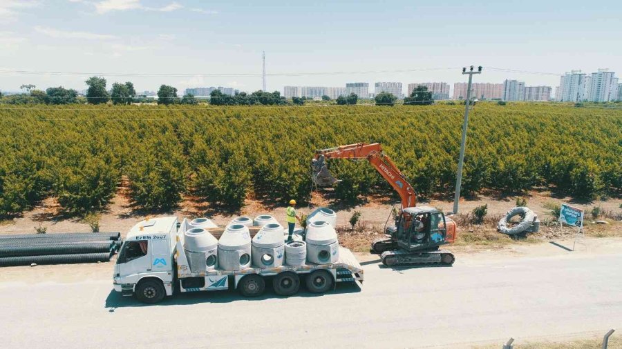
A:
[[[84,90],[99,73],[109,87],[132,81],[137,91],[162,83],[254,91],[262,51],[270,91],[368,82],[371,92],[377,81],[402,82],[404,92],[415,82],[453,86],[471,65],[484,67],[474,82],[558,86],[569,70],[622,74],[621,16],[622,1],[613,0],[0,0],[0,90],[27,83]],[[328,72],[339,74],[309,74]],[[138,76],[114,75],[126,73]],[[288,74],[270,75],[281,73]]]

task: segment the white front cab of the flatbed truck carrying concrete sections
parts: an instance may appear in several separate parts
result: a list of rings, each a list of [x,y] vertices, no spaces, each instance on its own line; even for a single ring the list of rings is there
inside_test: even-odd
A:
[[[128,232],[114,268],[113,286],[124,296],[156,303],[173,295],[177,217],[145,219]]]

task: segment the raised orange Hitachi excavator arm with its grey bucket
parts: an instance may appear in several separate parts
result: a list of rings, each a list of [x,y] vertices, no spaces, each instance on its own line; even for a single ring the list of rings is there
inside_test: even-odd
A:
[[[388,181],[390,186],[397,191],[402,198],[402,209],[413,207],[417,203],[415,190],[406,177],[397,169],[395,163],[382,152],[379,143],[355,143],[348,146],[321,149],[315,151],[312,161],[314,175],[312,179],[317,185],[332,185],[336,180],[330,176],[325,161],[329,159],[366,159]]]

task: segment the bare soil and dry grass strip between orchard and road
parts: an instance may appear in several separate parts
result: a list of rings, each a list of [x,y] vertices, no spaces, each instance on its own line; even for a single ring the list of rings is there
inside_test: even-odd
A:
[[[339,203],[328,195],[313,193],[311,204],[299,205],[298,210],[302,213],[309,213],[314,208],[328,206],[337,212],[337,224],[340,241],[343,246],[356,252],[366,252],[369,250],[370,241],[380,237],[387,222],[390,223],[392,204],[395,199],[387,197],[366,197],[361,199],[358,204],[348,205]],[[540,232],[531,234],[521,239],[509,237],[496,231],[496,223],[501,215],[507,210],[516,206],[516,197],[500,196],[494,193],[480,195],[478,197],[462,199],[460,201],[461,215],[468,214],[477,206],[487,204],[488,215],[484,223],[472,225],[464,217],[454,217],[458,221],[458,239],[453,250],[469,251],[490,248],[503,248],[513,243],[536,243],[554,239],[565,239],[576,234],[576,230],[571,228],[559,229],[554,225],[550,207],[560,203],[570,203],[572,206],[585,210],[585,237],[622,237],[622,199],[609,198],[594,202],[576,202],[570,197],[554,195],[549,191],[531,191],[525,195],[527,206],[534,210],[543,225]],[[429,201],[418,203],[418,205],[433,206],[449,212],[453,208],[453,201],[446,198],[436,198]],[[140,210],[135,210],[129,201],[125,187],[120,187],[117,195],[111,201],[109,208],[100,217],[100,231],[118,231],[121,235],[137,222],[147,217],[158,217],[176,215],[178,217],[201,217],[207,216],[216,221],[219,225],[225,225],[233,217],[238,215],[248,215],[254,217],[259,214],[269,213],[277,220],[285,221],[285,204],[266,203],[254,198],[246,199],[245,207],[237,212],[227,212],[216,210],[205,203],[197,202],[193,197],[185,197],[180,208],[171,212],[161,212],[157,215],[147,215]],[[396,204],[396,207],[399,206]],[[592,223],[594,219],[590,215],[592,208],[598,206],[604,213],[599,219],[607,221],[607,224]],[[361,212],[361,219],[354,230],[348,223],[352,212]],[[463,213],[464,212],[464,213]],[[25,212],[23,216],[17,217],[0,223],[0,234],[21,234],[35,232],[35,228],[45,228],[48,234],[56,232],[89,232],[88,224],[79,217],[64,217],[59,210],[59,205],[55,199],[46,199],[30,212]]]

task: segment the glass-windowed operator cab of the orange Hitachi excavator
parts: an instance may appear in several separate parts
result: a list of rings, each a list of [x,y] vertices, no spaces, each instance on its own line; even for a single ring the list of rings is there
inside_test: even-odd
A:
[[[400,249],[408,252],[434,250],[447,241],[445,215],[427,206],[406,208],[395,222],[395,239]]]

